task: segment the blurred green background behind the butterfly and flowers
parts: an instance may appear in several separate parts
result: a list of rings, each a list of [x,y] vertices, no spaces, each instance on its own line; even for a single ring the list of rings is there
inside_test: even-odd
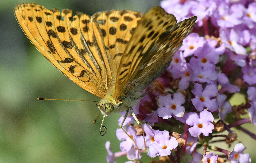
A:
[[[37,97],[99,101],[65,77],[30,43],[13,14],[24,0],[0,0],[0,163],[106,162],[105,142],[120,151],[115,136],[119,114],[105,119],[105,136],[99,135],[96,103],[38,101]],[[34,0],[51,9],[69,8],[89,15],[110,9],[145,12],[159,0]],[[234,101],[237,101],[234,99]],[[252,127],[248,124],[244,127]],[[255,133],[255,131],[254,131]],[[238,131],[239,140],[254,155],[255,140]],[[224,145],[227,149],[227,145]],[[142,161],[151,159],[143,154]],[[255,158],[255,157],[254,157]],[[117,162],[127,161],[126,157]],[[254,159],[255,162],[255,159]]]

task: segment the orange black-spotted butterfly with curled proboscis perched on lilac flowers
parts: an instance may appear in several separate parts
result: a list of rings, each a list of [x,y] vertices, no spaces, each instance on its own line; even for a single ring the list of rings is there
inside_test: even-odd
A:
[[[63,9],[60,15],[56,8],[23,3],[15,6],[14,14],[46,59],[83,89],[102,98],[97,106],[103,120],[112,112],[126,111],[125,120],[131,110],[138,124],[132,106],[169,66],[197,19],[193,16],[177,23],[159,6],[144,15],[110,10],[92,16],[77,12],[72,17],[70,9]],[[100,134],[104,135],[102,124]]]

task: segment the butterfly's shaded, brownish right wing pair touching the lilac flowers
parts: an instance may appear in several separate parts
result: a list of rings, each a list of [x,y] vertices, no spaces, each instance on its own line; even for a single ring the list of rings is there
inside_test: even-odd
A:
[[[173,15],[153,7],[142,17],[128,42],[118,70],[116,96],[144,90],[168,67],[172,56],[191,32],[196,17],[176,24]]]

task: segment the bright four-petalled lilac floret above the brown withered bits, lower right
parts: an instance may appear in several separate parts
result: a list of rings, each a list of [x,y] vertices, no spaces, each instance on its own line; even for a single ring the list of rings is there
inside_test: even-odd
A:
[[[199,116],[195,112],[190,112],[187,115],[186,123],[193,127],[190,127],[188,131],[194,137],[199,136],[201,133],[208,136],[214,129],[214,125],[211,123],[213,120],[212,114],[205,109],[199,113]]]

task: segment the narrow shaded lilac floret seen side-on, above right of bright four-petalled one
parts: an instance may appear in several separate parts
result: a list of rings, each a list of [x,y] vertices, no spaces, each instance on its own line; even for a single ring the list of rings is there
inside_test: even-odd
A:
[[[230,102],[225,101],[227,98],[224,94],[218,94],[217,95],[217,105],[219,109],[219,117],[225,121],[226,114],[229,114],[232,112],[232,106]]]

